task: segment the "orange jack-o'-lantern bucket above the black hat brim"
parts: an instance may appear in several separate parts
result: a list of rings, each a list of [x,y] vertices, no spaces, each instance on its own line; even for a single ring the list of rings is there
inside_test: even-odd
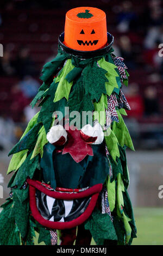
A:
[[[64,44],[78,51],[95,51],[107,43],[106,15],[93,7],[67,11]]]

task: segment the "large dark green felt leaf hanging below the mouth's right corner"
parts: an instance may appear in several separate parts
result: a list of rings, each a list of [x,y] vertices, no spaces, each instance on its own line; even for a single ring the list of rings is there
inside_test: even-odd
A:
[[[85,223],[85,229],[89,229],[97,245],[103,245],[104,240],[117,240],[114,225],[108,214],[101,214],[95,208],[91,217]]]

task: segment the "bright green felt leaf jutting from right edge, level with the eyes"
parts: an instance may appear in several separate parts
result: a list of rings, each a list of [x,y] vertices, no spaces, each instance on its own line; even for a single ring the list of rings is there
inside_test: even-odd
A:
[[[133,142],[131,141],[131,137],[129,135],[126,124],[124,124],[122,115],[118,110],[116,111],[118,114],[119,123],[113,122],[112,131],[115,133],[115,136],[117,137],[118,143],[121,145],[121,147],[126,145],[131,150],[134,150]]]

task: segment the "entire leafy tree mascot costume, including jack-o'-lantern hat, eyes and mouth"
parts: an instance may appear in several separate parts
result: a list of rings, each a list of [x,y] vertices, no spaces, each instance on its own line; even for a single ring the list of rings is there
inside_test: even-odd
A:
[[[122,118],[129,75],[113,41],[104,11],[66,13],[58,54],[31,103],[41,110],[9,153],[1,245],[34,245],[36,232],[46,245],[130,245],[136,237],[125,153],[134,147]]]

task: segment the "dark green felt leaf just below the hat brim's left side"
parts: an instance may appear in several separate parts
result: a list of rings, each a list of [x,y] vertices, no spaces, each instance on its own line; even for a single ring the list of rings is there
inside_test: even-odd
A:
[[[64,63],[65,59],[68,58],[67,53],[58,53],[57,56],[51,61],[47,62],[42,69],[42,76],[40,79],[46,83],[49,77],[55,74],[55,71]]]

